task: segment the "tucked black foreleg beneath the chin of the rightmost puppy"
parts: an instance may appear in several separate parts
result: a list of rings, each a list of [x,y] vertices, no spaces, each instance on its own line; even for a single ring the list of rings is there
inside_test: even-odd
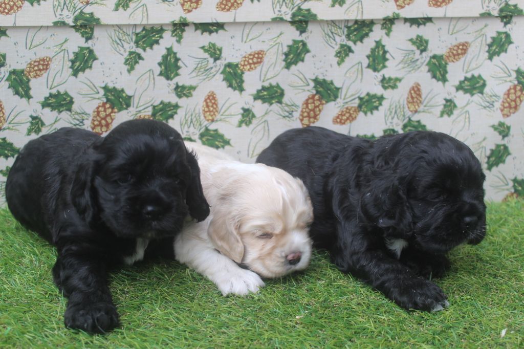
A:
[[[424,278],[440,278],[451,267],[445,255],[434,255],[407,247],[400,255],[401,263],[407,265],[414,273]]]

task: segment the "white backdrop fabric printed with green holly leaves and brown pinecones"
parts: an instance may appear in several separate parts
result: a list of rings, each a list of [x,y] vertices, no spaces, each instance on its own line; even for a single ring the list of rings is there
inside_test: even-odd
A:
[[[524,195],[523,5],[0,0],[0,185],[32,138],[155,118],[248,162],[291,127],[438,130]]]

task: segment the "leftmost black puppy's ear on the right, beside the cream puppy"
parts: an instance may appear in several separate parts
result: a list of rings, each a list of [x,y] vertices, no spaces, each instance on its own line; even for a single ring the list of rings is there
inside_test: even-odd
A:
[[[200,167],[193,152],[187,152],[187,160],[191,169],[191,179],[188,190],[185,192],[185,203],[189,207],[189,214],[197,222],[201,222],[209,215],[209,204],[205,200],[202,183],[200,182]]]

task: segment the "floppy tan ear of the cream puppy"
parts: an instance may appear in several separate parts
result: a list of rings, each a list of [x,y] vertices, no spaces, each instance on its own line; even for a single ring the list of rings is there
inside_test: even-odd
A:
[[[208,236],[213,246],[221,254],[242,263],[244,257],[244,244],[238,234],[238,220],[227,214],[221,214],[222,210],[217,210],[208,227]]]

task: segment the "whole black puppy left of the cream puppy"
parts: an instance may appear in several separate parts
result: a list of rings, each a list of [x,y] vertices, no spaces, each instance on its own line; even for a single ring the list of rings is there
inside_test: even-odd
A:
[[[68,127],[31,140],[9,171],[6,199],[21,224],[57,247],[65,325],[88,332],[118,326],[108,268],[144,253],[172,257],[188,213],[209,214],[195,156],[152,120],[124,122],[106,137]]]

